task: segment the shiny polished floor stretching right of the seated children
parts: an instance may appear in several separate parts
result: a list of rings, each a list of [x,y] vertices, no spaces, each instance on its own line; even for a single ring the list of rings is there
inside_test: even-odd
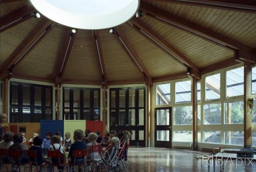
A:
[[[208,171],[207,164],[196,157],[205,152],[197,152],[191,150],[180,149],[163,149],[163,148],[130,148],[129,157],[130,164],[127,172],[206,172]],[[233,160],[233,165],[229,160],[224,166],[224,172],[256,172],[256,162],[248,165],[248,161],[236,168],[236,160]],[[225,160],[224,160],[225,163]],[[238,165],[241,161],[237,162]],[[248,166],[247,166],[248,165]],[[210,164],[210,171],[214,171]],[[216,171],[220,171],[220,167],[216,167]]]

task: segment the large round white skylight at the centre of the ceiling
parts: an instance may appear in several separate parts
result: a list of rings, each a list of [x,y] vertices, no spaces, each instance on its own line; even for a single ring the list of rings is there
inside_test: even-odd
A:
[[[42,15],[78,29],[106,29],[129,20],[139,0],[30,0]]]

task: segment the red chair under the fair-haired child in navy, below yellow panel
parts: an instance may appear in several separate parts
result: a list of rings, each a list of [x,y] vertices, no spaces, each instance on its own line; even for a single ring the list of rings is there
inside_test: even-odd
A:
[[[74,150],[73,153],[72,153],[72,157],[74,158],[71,163],[70,163],[70,167],[71,166],[75,166],[75,165],[78,165],[78,166],[82,166],[84,165],[84,171],[87,171],[86,169],[86,162],[85,162],[85,159],[84,157],[87,156],[87,150]]]

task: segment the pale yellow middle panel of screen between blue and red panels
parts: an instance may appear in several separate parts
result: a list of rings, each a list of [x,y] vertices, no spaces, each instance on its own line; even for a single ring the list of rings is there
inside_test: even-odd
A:
[[[74,140],[74,131],[78,129],[82,130],[83,132],[86,130],[86,120],[64,120],[64,134],[66,132],[70,132],[72,142]]]

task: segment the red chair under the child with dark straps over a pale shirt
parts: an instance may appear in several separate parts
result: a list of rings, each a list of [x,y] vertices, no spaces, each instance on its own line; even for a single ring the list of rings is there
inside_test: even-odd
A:
[[[67,166],[66,159],[64,163],[61,163],[61,159],[63,159],[64,158],[63,156],[65,155],[62,155],[59,150],[56,150],[56,151],[49,150],[47,155],[50,158],[48,172],[50,171],[50,168],[52,168],[52,172],[54,172],[54,166],[63,167],[64,169]]]

